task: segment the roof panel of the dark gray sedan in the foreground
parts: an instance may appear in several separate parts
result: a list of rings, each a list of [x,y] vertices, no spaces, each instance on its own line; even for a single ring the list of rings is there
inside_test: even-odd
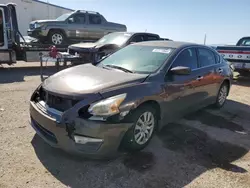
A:
[[[199,44],[189,43],[189,42],[155,40],[155,41],[145,41],[145,42],[134,43],[133,45],[181,48],[181,47],[187,47],[187,46],[199,45]]]

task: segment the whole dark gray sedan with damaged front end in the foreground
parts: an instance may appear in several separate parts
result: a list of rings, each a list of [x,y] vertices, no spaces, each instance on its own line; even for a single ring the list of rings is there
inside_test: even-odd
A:
[[[212,48],[151,41],[128,45],[97,65],[65,69],[30,100],[31,124],[47,143],[110,156],[143,149],[154,132],[183,115],[224,105],[233,72]]]

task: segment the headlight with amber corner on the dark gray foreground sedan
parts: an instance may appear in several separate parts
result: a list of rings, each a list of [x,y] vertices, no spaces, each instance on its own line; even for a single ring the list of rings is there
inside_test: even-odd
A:
[[[92,104],[88,112],[94,116],[110,116],[120,112],[119,106],[126,98],[127,94],[116,95],[97,103]]]

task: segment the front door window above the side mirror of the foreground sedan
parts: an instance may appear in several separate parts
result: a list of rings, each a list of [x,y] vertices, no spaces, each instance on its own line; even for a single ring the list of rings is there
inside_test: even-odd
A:
[[[189,67],[191,70],[198,68],[196,51],[194,48],[186,49],[181,52],[175,59],[172,67],[184,66]]]

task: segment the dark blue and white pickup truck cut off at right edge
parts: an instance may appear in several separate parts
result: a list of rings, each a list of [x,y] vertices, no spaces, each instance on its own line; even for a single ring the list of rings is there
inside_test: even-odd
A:
[[[217,46],[216,50],[231,62],[236,72],[250,74],[250,37],[241,38],[236,45]]]

